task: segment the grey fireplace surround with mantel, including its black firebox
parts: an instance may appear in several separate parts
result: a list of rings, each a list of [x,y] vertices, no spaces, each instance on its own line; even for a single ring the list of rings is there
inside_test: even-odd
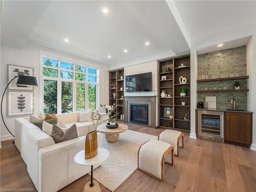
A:
[[[125,123],[156,128],[156,96],[125,96]]]

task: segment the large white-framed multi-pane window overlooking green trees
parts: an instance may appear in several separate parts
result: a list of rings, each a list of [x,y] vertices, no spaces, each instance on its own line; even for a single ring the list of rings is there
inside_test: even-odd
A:
[[[45,114],[97,108],[97,69],[42,57],[42,79]]]

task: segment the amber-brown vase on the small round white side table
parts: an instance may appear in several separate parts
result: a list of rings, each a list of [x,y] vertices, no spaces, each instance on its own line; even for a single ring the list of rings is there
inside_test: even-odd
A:
[[[91,159],[98,154],[98,139],[97,139],[96,130],[89,132],[86,135],[86,143],[85,143],[84,148],[85,148],[84,157],[86,159]]]

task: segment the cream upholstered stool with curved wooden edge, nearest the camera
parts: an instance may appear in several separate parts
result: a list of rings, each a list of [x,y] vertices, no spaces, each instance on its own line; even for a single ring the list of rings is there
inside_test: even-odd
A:
[[[149,140],[143,143],[138,151],[138,169],[142,172],[164,180],[164,162],[168,157],[171,165],[174,163],[174,148],[169,143],[159,140]]]

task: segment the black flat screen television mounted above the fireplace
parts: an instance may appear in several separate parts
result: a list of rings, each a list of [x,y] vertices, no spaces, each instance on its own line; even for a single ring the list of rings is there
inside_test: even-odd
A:
[[[152,72],[125,76],[125,92],[152,91]]]

